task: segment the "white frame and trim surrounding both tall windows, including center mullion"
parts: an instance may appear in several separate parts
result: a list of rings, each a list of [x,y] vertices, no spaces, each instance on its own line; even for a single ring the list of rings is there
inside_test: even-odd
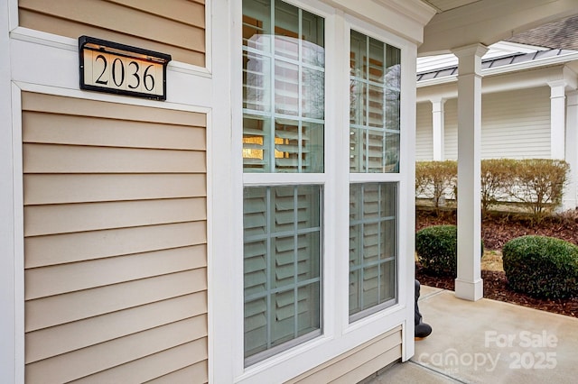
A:
[[[380,41],[394,45],[401,50],[401,61],[404,66],[412,66],[416,59],[415,42],[406,40],[396,35],[394,30],[387,31],[384,27],[378,27],[350,14],[344,14],[338,8],[332,7],[320,0],[309,0],[306,3],[301,0],[285,0],[287,3],[303,8],[312,14],[317,14],[325,19],[325,108],[342,110],[342,114],[325,115],[325,161],[324,173],[322,174],[298,174],[295,180],[287,174],[272,174],[266,182],[267,186],[285,186],[298,184],[320,184],[323,187],[323,205],[330,207],[323,209],[323,239],[322,239],[322,335],[303,344],[296,345],[284,352],[279,352],[264,361],[253,365],[244,366],[243,345],[243,222],[242,222],[242,196],[243,187],[263,186],[260,174],[243,173],[242,165],[242,65],[238,59],[242,55],[240,25],[233,28],[231,49],[231,117],[232,135],[231,148],[231,180],[234,185],[232,192],[233,210],[231,219],[233,222],[234,245],[231,259],[232,292],[229,293],[229,314],[231,317],[223,323],[232,324],[228,329],[233,359],[232,376],[235,381],[255,381],[258,378],[266,379],[275,372],[279,379],[290,379],[296,372],[313,369],[325,361],[331,360],[336,355],[348,352],[361,343],[368,342],[371,338],[378,337],[384,332],[404,326],[404,349],[406,358],[413,355],[413,288],[414,259],[407,257],[407,251],[414,249],[415,206],[412,196],[414,193],[415,168],[411,164],[414,161],[415,133],[411,128],[402,128],[400,137],[400,168],[398,173],[388,174],[350,174],[348,156],[338,156],[340,153],[349,155],[349,52],[350,52],[350,29],[363,32]],[[233,2],[233,20],[240,20],[240,2]],[[412,75],[413,72],[413,75]],[[413,78],[412,78],[413,76]],[[401,109],[400,118],[402,127],[415,126],[415,71],[402,71]],[[331,106],[330,106],[331,105]],[[336,132],[340,134],[336,134]],[[339,175],[339,176],[338,176]],[[349,319],[349,191],[350,183],[354,182],[396,182],[398,183],[398,242],[400,260],[397,265],[399,295],[398,303],[385,310],[368,315],[359,321],[350,323]],[[340,212],[333,206],[344,206]],[[216,237],[219,239],[219,236]],[[329,255],[329,256],[328,256]],[[331,260],[328,260],[331,259]],[[406,283],[410,281],[411,285]],[[404,284],[402,286],[401,284]],[[408,301],[409,300],[409,301]],[[220,301],[220,300],[219,300]],[[411,306],[410,306],[411,304]],[[221,303],[221,309],[222,303]],[[220,314],[221,312],[219,312]],[[219,340],[223,340],[219,337]],[[221,349],[224,347],[220,346]],[[222,362],[221,362],[222,364]]]

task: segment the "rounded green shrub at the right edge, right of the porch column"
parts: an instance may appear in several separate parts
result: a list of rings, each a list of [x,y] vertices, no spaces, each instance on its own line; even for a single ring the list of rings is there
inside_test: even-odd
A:
[[[553,237],[528,235],[504,244],[504,271],[510,288],[533,297],[578,294],[578,247]]]

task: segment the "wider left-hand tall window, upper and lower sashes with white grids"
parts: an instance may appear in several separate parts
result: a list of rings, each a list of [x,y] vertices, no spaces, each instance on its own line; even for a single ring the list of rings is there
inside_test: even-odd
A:
[[[246,366],[322,332],[323,24],[278,0],[243,1]]]

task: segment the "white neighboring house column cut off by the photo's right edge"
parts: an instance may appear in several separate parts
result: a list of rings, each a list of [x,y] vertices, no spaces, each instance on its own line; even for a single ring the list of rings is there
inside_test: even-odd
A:
[[[566,105],[566,161],[570,164],[568,183],[564,189],[563,209],[576,207],[578,193],[578,91],[569,92]]]

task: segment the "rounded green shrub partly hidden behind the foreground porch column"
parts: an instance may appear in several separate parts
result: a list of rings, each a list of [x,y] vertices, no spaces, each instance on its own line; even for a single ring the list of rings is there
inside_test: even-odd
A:
[[[417,260],[434,276],[457,276],[458,228],[433,225],[415,233]],[[481,254],[484,252],[481,243]]]

